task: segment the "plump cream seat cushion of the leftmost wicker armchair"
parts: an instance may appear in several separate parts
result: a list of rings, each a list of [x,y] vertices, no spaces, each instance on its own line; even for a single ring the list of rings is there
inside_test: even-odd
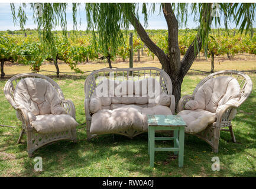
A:
[[[67,131],[79,125],[72,116],[67,114],[38,115],[36,116],[36,120],[32,121],[30,124],[35,131],[43,134]]]

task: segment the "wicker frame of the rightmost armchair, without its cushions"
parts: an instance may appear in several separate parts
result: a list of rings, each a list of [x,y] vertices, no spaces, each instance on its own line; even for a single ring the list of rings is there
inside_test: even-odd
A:
[[[208,142],[210,146],[212,146],[213,152],[218,152],[218,146],[219,146],[219,137],[221,131],[228,131],[231,133],[231,138],[233,142],[236,142],[235,135],[232,129],[231,120],[236,115],[236,109],[248,98],[248,96],[251,94],[252,91],[252,81],[247,76],[247,74],[244,74],[240,71],[234,71],[234,70],[223,70],[218,71],[216,73],[212,73],[209,76],[205,77],[199,84],[197,84],[195,90],[193,91],[193,94],[188,94],[183,96],[179,100],[179,104],[177,106],[177,112],[178,114],[182,114],[182,112],[187,111],[185,109],[185,105],[190,100],[194,101],[195,94],[200,90],[200,87],[203,86],[206,82],[208,82],[210,79],[217,78],[220,76],[230,76],[236,79],[238,82],[238,86],[240,86],[239,89],[239,98],[236,100],[235,103],[226,103],[221,106],[219,106],[218,111],[213,112],[215,115],[215,118],[213,123],[210,123],[203,131],[200,131],[198,133],[192,133],[193,135],[198,136],[199,138],[203,139],[204,141]],[[223,77],[222,77],[223,78]],[[222,86],[221,86],[222,87]],[[219,88],[221,88],[219,87]],[[193,110],[189,110],[192,112]],[[196,109],[194,110],[196,111]],[[184,116],[187,116],[183,113]],[[228,128],[228,129],[225,129]]]

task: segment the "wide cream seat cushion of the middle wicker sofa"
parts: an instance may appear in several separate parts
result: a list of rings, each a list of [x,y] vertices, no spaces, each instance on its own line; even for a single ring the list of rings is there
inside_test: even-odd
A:
[[[171,115],[167,106],[141,107],[125,105],[113,110],[101,109],[92,115],[90,132],[96,134],[115,133],[135,129],[147,132],[147,115]]]

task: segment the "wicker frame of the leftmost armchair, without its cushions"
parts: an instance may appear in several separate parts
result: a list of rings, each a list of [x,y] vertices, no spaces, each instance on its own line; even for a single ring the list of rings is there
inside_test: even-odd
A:
[[[59,141],[59,140],[72,140],[76,142],[76,128],[70,129],[67,131],[55,132],[55,133],[38,133],[35,129],[30,125],[30,120],[28,118],[28,111],[24,107],[20,107],[14,101],[14,92],[15,87],[17,86],[18,80],[24,79],[25,77],[34,77],[34,78],[41,78],[47,80],[53,87],[56,89],[59,97],[61,99],[61,106],[66,110],[66,113],[76,119],[76,110],[74,104],[71,100],[65,100],[63,93],[59,87],[59,85],[54,82],[54,80],[50,79],[47,76],[43,76],[41,74],[35,73],[26,73],[26,74],[18,74],[5,84],[4,87],[4,94],[9,103],[11,103],[12,107],[17,111],[17,116],[22,119],[22,130],[20,133],[20,137],[18,138],[18,143],[21,142],[22,135],[24,132],[27,133],[27,151],[28,157],[32,157],[33,152],[40,148],[43,145],[49,144],[51,142]]]

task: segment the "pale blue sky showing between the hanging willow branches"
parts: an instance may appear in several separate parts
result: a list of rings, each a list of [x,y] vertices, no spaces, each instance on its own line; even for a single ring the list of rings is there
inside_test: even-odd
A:
[[[16,7],[18,7],[20,4],[15,4]],[[148,5],[150,6],[150,4]],[[83,7],[80,7],[80,13],[77,12],[77,30],[86,30],[86,15],[85,15],[85,11],[84,11],[84,5]],[[140,6],[141,8],[141,6]],[[166,24],[166,20],[164,19],[164,15],[162,11],[159,11],[160,9],[160,5],[157,4],[155,6],[155,13],[153,15],[149,15],[148,17],[148,27],[147,29],[150,30],[157,30],[157,29],[167,29],[167,24]],[[16,11],[17,12],[17,11]],[[140,9],[141,12],[141,9]],[[27,7],[26,9],[26,14],[27,14],[27,24],[25,25],[25,28],[30,28],[30,29],[34,29],[37,28],[37,25],[34,24],[33,21],[33,11],[30,10],[29,7]],[[68,8],[67,8],[67,30],[73,30],[73,18],[72,18],[72,5],[69,4]],[[81,22],[82,24],[79,25],[79,20],[81,18]],[[143,21],[144,17],[142,14],[140,14],[140,21],[143,25],[144,21]],[[221,19],[221,21],[223,22],[223,19]],[[253,27],[255,27],[256,22],[253,23]],[[196,28],[197,27],[197,23],[195,23],[193,21],[192,17],[188,18],[187,21],[187,28]],[[223,28],[223,24],[221,25],[221,27]],[[231,23],[230,24],[231,28],[235,28],[235,24]],[[184,27],[182,27],[184,28]],[[131,26],[130,30],[133,30],[134,28]],[[4,30],[20,30],[20,26],[19,25],[14,25],[13,19],[12,19],[12,13],[11,13],[11,6],[8,3],[0,3],[0,31],[4,31]],[[61,30],[60,27],[55,28],[55,30]]]

